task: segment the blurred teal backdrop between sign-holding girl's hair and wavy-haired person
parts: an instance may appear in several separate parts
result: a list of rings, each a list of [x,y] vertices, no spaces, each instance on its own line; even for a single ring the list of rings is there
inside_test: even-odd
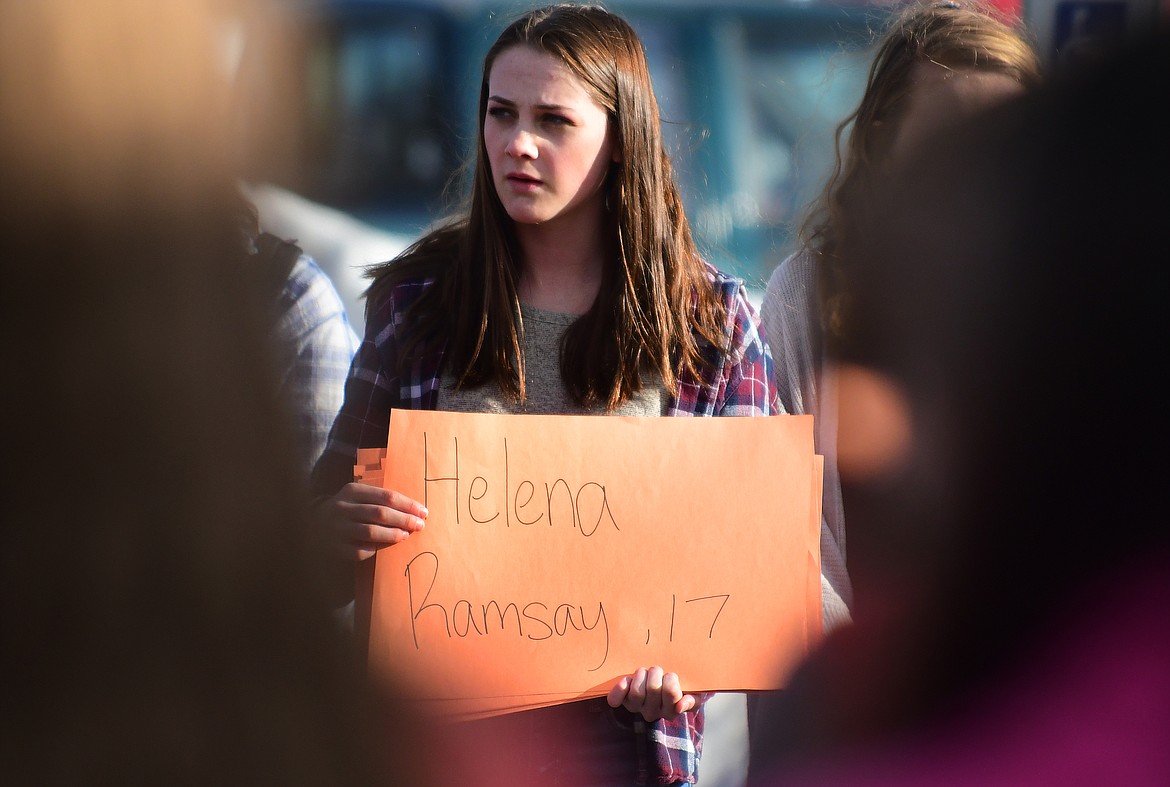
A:
[[[834,133],[861,98],[881,12],[631,7],[615,9],[646,46],[696,235],[759,284],[794,246],[832,170]]]

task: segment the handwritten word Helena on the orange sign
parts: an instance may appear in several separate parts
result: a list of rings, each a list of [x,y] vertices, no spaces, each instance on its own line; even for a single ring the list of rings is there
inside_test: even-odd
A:
[[[452,484],[450,492],[455,498],[455,524],[460,522],[460,509],[466,506],[467,516],[476,524],[487,524],[500,518],[500,510],[503,509],[504,526],[511,527],[512,522],[521,525],[535,525],[548,519],[549,526],[553,524],[553,511],[564,512],[567,505],[572,512],[573,527],[580,531],[581,536],[590,537],[597,532],[601,522],[608,519],[614,530],[621,527],[613,518],[610,510],[610,499],[606,497],[605,486],[593,481],[581,484],[574,493],[564,478],[557,478],[551,484],[544,483],[544,495],[538,496],[536,484],[531,481],[521,481],[512,486],[511,467],[508,464],[508,439],[505,437],[503,450],[503,500],[498,495],[498,479],[495,484],[488,483],[483,476],[475,476],[461,489],[462,477],[459,471],[459,437],[452,437],[454,443],[454,474],[453,476],[432,476],[432,449],[427,440],[427,433],[422,433],[422,481],[424,497],[422,504],[431,508],[431,492],[439,491],[442,484]],[[435,470],[439,472],[439,470]],[[494,500],[484,499],[488,492],[496,490]],[[461,506],[460,504],[464,504]],[[502,505],[501,505],[502,503]]]

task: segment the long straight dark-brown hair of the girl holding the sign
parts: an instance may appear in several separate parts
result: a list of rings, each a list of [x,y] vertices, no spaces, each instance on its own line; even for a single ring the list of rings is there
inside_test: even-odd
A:
[[[531,11],[496,39],[483,62],[476,158],[463,215],[428,233],[397,260],[373,268],[367,319],[393,287],[418,276],[436,283],[417,302],[401,355],[446,341],[459,386],[495,381],[524,400],[516,283],[523,267],[515,226],[496,194],[483,140],[488,80],[511,47],[560,60],[610,116],[620,163],[606,182],[605,226],[613,264],[592,308],[566,331],[560,374],[581,406],[614,409],[656,372],[667,391],[703,363],[701,339],[722,346],[723,308],[707,281],[662,144],[658,101],[641,40],[594,5]],[[410,363],[408,360],[404,363]]]

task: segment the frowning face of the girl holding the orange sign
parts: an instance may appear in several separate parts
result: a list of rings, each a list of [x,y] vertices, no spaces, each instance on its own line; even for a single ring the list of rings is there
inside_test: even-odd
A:
[[[496,57],[483,141],[512,221],[599,219],[605,177],[618,160],[608,115],[558,58],[526,46]]]

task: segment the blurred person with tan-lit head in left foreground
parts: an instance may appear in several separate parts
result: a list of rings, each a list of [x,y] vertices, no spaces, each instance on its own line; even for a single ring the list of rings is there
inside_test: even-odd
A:
[[[303,522],[211,62],[226,7],[0,5],[6,785],[422,780]]]

